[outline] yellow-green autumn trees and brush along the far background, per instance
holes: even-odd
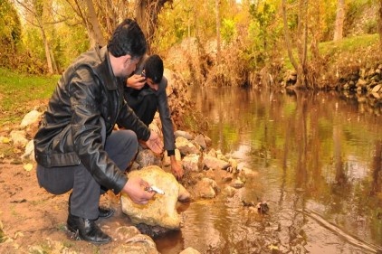
[[[358,54],[356,47],[351,59],[377,64],[381,16],[382,0],[3,0],[0,67],[61,73],[130,17],[146,34],[149,52],[188,83],[251,86],[264,77],[280,81],[291,69],[299,87],[321,89],[336,82],[335,71],[350,58],[333,59],[320,43],[336,49],[344,39],[374,34],[368,51]],[[349,48],[362,38],[349,40]]]

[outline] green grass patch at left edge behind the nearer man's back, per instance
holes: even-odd
[[[49,99],[60,76],[29,76],[0,68],[0,126],[20,122]]]

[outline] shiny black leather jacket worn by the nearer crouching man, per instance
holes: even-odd
[[[123,99],[107,47],[81,54],[62,74],[34,136],[36,162],[45,167],[84,165],[101,185],[119,193],[128,181],[103,149],[100,118],[109,136],[116,123],[139,139],[150,132]]]

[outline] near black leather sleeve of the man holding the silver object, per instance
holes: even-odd
[[[82,69],[69,84],[74,151],[97,183],[119,193],[128,178],[104,150],[100,124],[100,80]]]

